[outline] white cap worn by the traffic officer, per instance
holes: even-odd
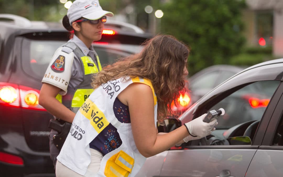
[[[113,17],[114,14],[103,10],[98,0],[76,0],[68,9],[67,16],[72,26],[72,22],[81,17],[89,20],[97,20],[102,16]]]

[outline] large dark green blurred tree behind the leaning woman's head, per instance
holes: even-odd
[[[161,7],[161,32],[191,47],[190,75],[211,65],[228,64],[241,51],[244,7],[240,0],[178,0]]]

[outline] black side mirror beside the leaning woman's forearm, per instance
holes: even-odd
[[[158,133],[160,132],[169,133],[181,126],[182,126],[182,122],[176,118],[165,119],[164,125],[160,125],[160,123],[157,122]]]

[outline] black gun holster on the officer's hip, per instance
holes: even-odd
[[[71,129],[71,123],[63,121],[63,120],[58,120],[58,119],[51,119],[49,121],[48,128],[53,129],[58,132],[57,135],[53,136],[53,142],[55,146],[61,150],[69,132]]]

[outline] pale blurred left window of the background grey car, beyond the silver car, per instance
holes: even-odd
[[[201,75],[198,79],[194,79],[194,81],[190,82],[190,89],[213,89],[219,74],[220,72],[210,72]]]

